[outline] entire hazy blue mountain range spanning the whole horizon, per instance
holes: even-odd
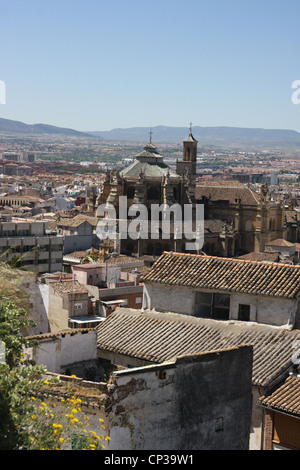
[[[57,135],[74,137],[97,137],[106,141],[149,142],[150,128],[117,128],[110,131],[81,132],[48,124],[25,124],[0,118],[0,133],[16,135]],[[187,127],[156,126],[152,128],[153,143],[181,144],[188,134]],[[193,135],[199,146],[288,149],[300,151],[300,133],[293,130],[261,129],[243,127],[193,127]]]

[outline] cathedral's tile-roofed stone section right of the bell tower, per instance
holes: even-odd
[[[222,232],[205,237],[203,251],[208,255],[261,252],[268,242],[285,238],[284,202],[272,201],[265,185],[254,191],[238,181],[198,182],[196,199],[204,204],[206,220],[224,223]]]

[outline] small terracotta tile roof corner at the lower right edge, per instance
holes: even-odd
[[[272,394],[259,399],[262,406],[300,416],[300,377],[290,375]]]

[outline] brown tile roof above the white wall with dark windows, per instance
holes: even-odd
[[[295,298],[300,266],[164,252],[143,282]]]

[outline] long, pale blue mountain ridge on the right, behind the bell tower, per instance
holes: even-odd
[[[105,140],[148,142],[149,132],[150,129],[146,127],[132,127],[92,132],[91,134]],[[152,128],[152,132],[153,143],[181,143],[188,136],[189,129],[187,127],[156,126]],[[192,133],[200,146],[248,146],[300,150],[300,133],[293,130],[194,126]]]

